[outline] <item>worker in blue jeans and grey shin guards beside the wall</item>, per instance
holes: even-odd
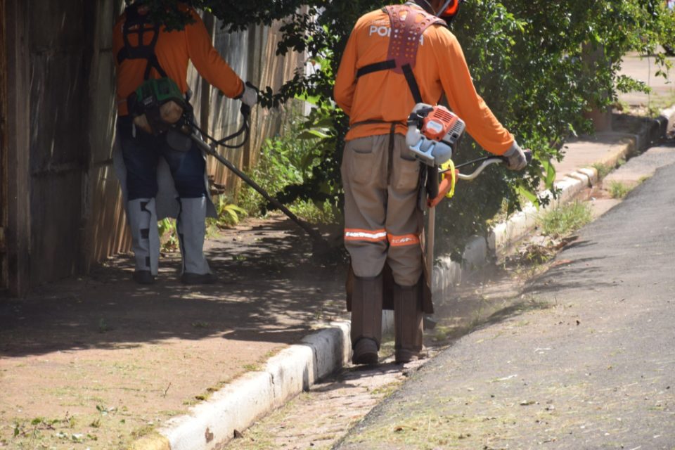
[[[213,283],[203,254],[205,220],[215,216],[205,176],[205,155],[189,136],[173,131],[148,132],[136,122],[143,113],[136,89],[162,80],[186,101],[188,62],[207,82],[246,105],[257,103],[257,91],[246,86],[212,46],[211,37],[193,8],[177,8],[191,16],[184,30],[167,31],[148,18],[146,1],[127,6],[113,28],[113,56],[117,69],[117,148],[115,165],[124,193],[127,219],[136,259],[133,279],[151,284],[158,274],[158,219],[176,217],[186,284]],[[188,103],[186,108],[189,110]],[[148,119],[152,113],[148,112]],[[145,115],[141,116],[145,117]],[[173,136],[173,137],[169,137]],[[176,138],[176,136],[178,136]],[[176,144],[176,139],[178,144]],[[178,148],[178,150],[176,150]]]

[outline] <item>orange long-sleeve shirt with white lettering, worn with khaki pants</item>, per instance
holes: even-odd
[[[415,101],[404,75],[383,70],[356,78],[359,68],[387,60],[389,33],[389,15],[381,9],[356,22],[340,61],[333,94],[349,115],[350,124],[366,120],[401,122],[396,132],[406,134],[405,123]],[[437,104],[445,92],[451,109],[485,150],[501,155],[513,145],[513,135],[477,94],[461,46],[446,27],[432,25],[424,32],[413,73],[424,103]],[[349,130],[346,139],[389,132],[387,123],[360,124]]]

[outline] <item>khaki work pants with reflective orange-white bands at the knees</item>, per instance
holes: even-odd
[[[348,141],[341,171],[345,247],[354,275],[378,276],[388,262],[398,285],[415,285],[423,270],[420,163],[410,155],[405,136]]]

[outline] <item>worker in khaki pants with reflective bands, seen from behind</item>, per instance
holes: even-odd
[[[395,359],[422,350],[423,211],[420,162],[406,145],[406,119],[418,103],[446,95],[466,129],[520,170],[525,154],[477,94],[456,37],[446,24],[461,0],[415,0],[356,22],[335,79],[335,102],[349,116],[342,159],[345,247],[352,259],[352,361],[376,364],[383,269],[391,269]],[[390,300],[390,299],[387,299]]]

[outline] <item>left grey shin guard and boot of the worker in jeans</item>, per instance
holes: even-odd
[[[155,199],[137,198],[127,202],[127,220],[131,229],[131,248],[136,260],[133,279],[139,284],[153,284],[160,260]]]

